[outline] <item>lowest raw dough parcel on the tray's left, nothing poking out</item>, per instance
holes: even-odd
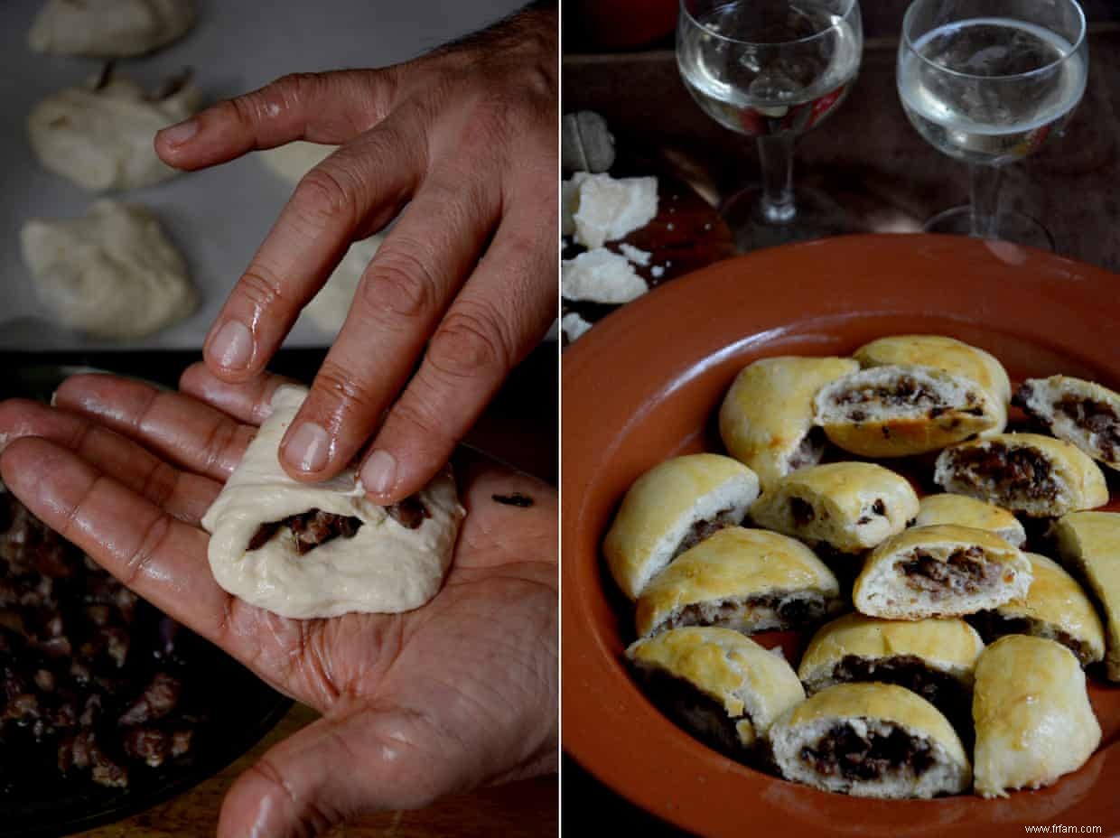
[[[84,218],[28,221],[20,244],[39,299],[68,328],[143,337],[198,305],[183,257],[139,204],[99,201]]]

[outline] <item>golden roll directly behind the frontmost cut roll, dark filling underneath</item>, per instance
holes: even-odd
[[[846,614],[810,641],[797,668],[809,695],[834,683],[880,681],[922,696],[953,720],[968,720],[972,672],[983,651],[963,620],[876,620]]]

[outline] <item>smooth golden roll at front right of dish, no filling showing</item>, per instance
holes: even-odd
[[[1007,797],[1076,771],[1101,742],[1085,673],[1065,646],[1011,634],[977,662],[972,698],[976,791]]]

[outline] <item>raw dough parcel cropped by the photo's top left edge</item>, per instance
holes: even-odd
[[[121,58],[170,44],[195,17],[192,0],[47,0],[28,44],[37,53]]]

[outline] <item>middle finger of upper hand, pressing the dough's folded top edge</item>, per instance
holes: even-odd
[[[293,477],[324,479],[349,465],[477,261],[497,221],[498,196],[484,178],[459,174],[426,181],[362,278],[281,444]]]

